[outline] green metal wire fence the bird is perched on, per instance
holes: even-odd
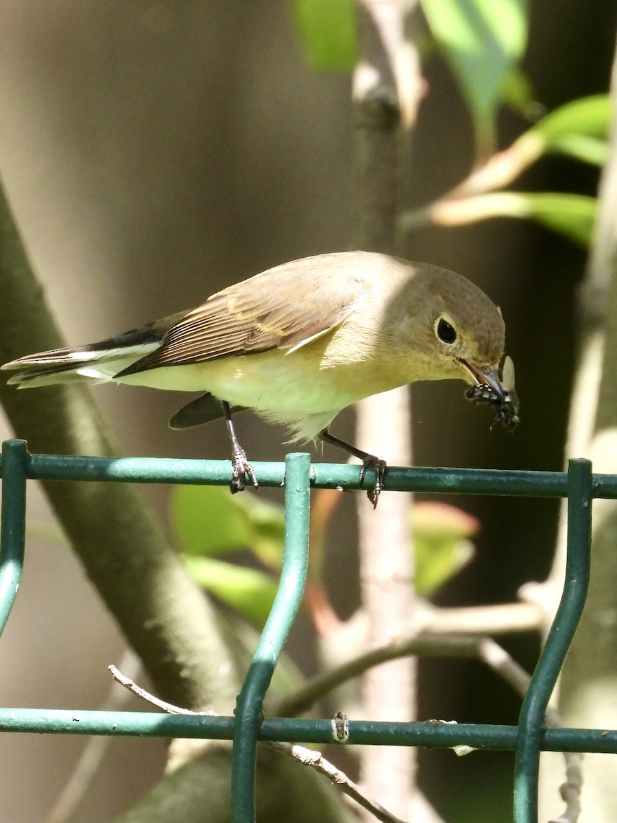
[[[359,468],[310,463],[308,454],[289,454],[285,463],[256,463],[263,486],[285,486],[285,555],[281,583],[240,691],[234,717],[180,716],[141,712],[56,709],[0,709],[0,731],[53,734],[198,737],[233,740],[234,823],[254,818],[257,741],[325,744],[332,721],[262,718],[262,700],[299,607],[308,557],[311,488],[359,488]],[[28,480],[138,483],[230,482],[230,463],[155,458],[88,458],[30,454],[23,440],[2,445],[0,523],[0,630],[4,628],[21,579]],[[545,709],[581,616],[589,582],[591,503],[617,497],[617,476],[591,473],[587,460],[571,460],[568,472],[506,472],[485,469],[397,468],[387,487],[480,495],[565,497],[568,499],[568,559],[564,591],[545,648],[522,704],[518,726],[434,723],[349,723],[348,745],[473,746],[516,750],[515,823],[536,823],[540,751],[617,753],[617,730],[545,728]]]

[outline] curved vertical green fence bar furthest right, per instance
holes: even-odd
[[[514,767],[514,823],[538,820],[538,768],[546,707],[581,618],[589,586],[592,498],[591,463],[569,460],[564,592],[522,703]]]

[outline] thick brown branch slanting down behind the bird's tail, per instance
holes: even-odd
[[[63,346],[2,193],[0,293],[2,362],[28,351]],[[72,385],[38,391],[35,397],[3,380],[0,384],[0,399],[13,429],[31,451],[114,453],[88,389]],[[157,690],[193,706],[229,704],[237,678],[220,621],[137,488],[90,482],[43,486],[88,576]]]

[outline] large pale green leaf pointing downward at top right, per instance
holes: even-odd
[[[488,142],[504,77],[527,43],[527,2],[422,0],[422,8],[471,109],[476,136]]]

